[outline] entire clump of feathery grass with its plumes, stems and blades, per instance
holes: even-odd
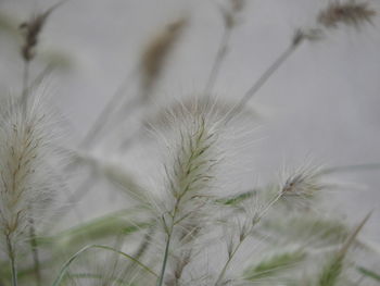
[[[215,101],[211,92],[221,70],[232,32],[239,23],[239,15],[248,2],[228,0],[226,5],[220,5],[224,34],[205,89],[202,90],[203,97],[175,102],[140,122],[141,125],[145,123],[144,127],[148,126],[150,130],[160,130],[160,136],[153,141],[164,141],[166,147],[164,183],[154,184],[159,187],[153,192],[144,184],[150,174],[143,174],[140,182],[139,176],[131,175],[119,163],[129,159],[122,157],[121,150],[115,151],[117,161],[109,160],[109,154],[98,157],[81,151],[96,144],[101,132],[104,132],[102,139],[114,139],[106,136],[109,133],[105,126],[111,125],[115,111],[123,114],[131,114],[132,111],[142,113],[141,108],[151,102],[150,97],[173,47],[187,27],[188,18],[180,17],[166,26],[143,49],[138,65],[140,90],[136,97],[118,108],[124,91],[123,88],[118,90],[119,94],[110,101],[79,145],[81,150],[75,152],[78,159],[73,164],[75,167],[90,166],[93,170],[83,185],[85,191],[97,185],[100,177],[106,178],[113,183],[107,184],[106,188],[112,189],[116,185],[128,195],[124,209],[89,222],[76,223],[75,227],[50,237],[36,237],[36,226],[41,224],[41,216],[46,215],[43,211],[54,197],[56,178],[51,176],[51,166],[54,165],[51,161],[55,161],[50,126],[52,119],[43,108],[43,100],[36,99],[29,92],[28,65],[35,59],[38,38],[47,17],[62,2],[22,25],[24,43],[21,58],[25,63],[22,100],[5,100],[0,105],[0,234],[2,245],[5,246],[7,262],[11,265],[11,270],[7,271],[8,268],[0,264],[0,285],[4,284],[3,277],[11,275],[12,285],[17,286],[18,278],[30,279],[29,273],[36,275],[37,285],[49,285],[52,281],[53,286],[333,286],[350,281],[345,275],[349,270],[346,262],[350,261],[347,252],[353,246],[357,250],[368,251],[370,244],[360,239],[358,233],[369,216],[351,232],[338,217],[321,215],[316,211],[320,207],[316,195],[324,195],[322,190],[332,187],[322,183],[322,176],[337,170],[307,164],[286,174],[280,183],[276,181],[265,186],[251,187],[238,195],[230,194],[239,190],[239,178],[231,178],[237,181],[233,187],[229,184],[218,186],[217,182],[225,175],[231,176],[229,171],[226,174],[220,172],[220,166],[229,159],[225,156],[229,150],[223,148],[225,135],[232,132],[232,137],[236,137],[237,127],[248,127],[236,119],[254,119],[252,112],[245,109],[249,100],[302,42],[320,39],[324,32],[340,24],[359,27],[370,22],[376,13],[369,4],[356,1],[331,2],[317,15],[313,28],[295,32],[284,52],[241,100],[232,103]],[[124,114],[123,120],[126,117]],[[119,123],[117,120],[115,122]],[[239,126],[232,123],[239,123]],[[123,141],[121,145],[129,138],[142,145],[141,137],[135,135],[121,135],[122,138],[117,139]],[[153,144],[150,144],[152,147]],[[229,147],[238,149],[236,145]],[[231,165],[229,167],[232,169]],[[101,176],[96,176],[96,173]],[[102,184],[99,186],[104,187]],[[83,196],[81,191],[79,195]],[[283,201],[286,203],[281,203]],[[112,238],[116,238],[116,241]],[[23,275],[17,275],[21,249],[27,239],[33,247],[34,265],[23,263]],[[221,259],[220,249],[225,243],[226,258]],[[43,256],[41,264],[37,248],[43,248],[43,254],[49,253]],[[131,254],[124,252],[124,249]],[[98,259],[100,253],[96,253],[96,259],[85,256],[93,250],[109,251],[112,256],[106,257],[105,262],[101,259],[105,256]],[[72,251],[75,253],[66,256],[66,252]],[[51,270],[61,262],[56,253],[63,252],[65,262],[58,274],[40,275],[42,268],[52,273]],[[84,261],[80,260],[83,257]],[[319,263],[326,257],[329,258],[327,264]],[[358,270],[378,281],[376,272],[366,268]]]

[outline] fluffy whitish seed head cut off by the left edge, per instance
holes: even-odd
[[[26,115],[9,101],[0,119],[0,232],[16,238],[52,199],[50,122],[38,100]]]

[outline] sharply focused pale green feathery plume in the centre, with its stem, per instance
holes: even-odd
[[[199,215],[210,197],[210,182],[213,181],[218,162],[215,150],[218,138],[217,122],[213,122],[213,114],[204,113],[197,103],[190,111],[183,109],[182,112],[182,119],[174,117],[179,121],[180,126],[173,147],[173,162],[165,167],[170,203],[166,207],[166,214],[162,216],[166,247],[157,286],[164,285],[172,240],[178,239],[176,235],[183,238],[197,232]],[[179,233],[177,229],[180,229]],[[183,229],[188,231],[183,233]],[[189,254],[185,256],[181,269],[188,263]],[[179,272],[181,270],[177,269],[175,276],[178,277]]]

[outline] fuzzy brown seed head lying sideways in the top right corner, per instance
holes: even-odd
[[[325,27],[335,27],[339,23],[358,27],[365,22],[370,23],[375,15],[376,11],[368,3],[335,1],[319,13],[318,22]]]

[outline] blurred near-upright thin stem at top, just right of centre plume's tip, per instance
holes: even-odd
[[[232,28],[230,26],[227,26],[223,33],[223,37],[218,47],[218,51],[216,53],[213,67],[211,70],[208,79],[206,82],[206,86],[204,88],[204,94],[206,97],[210,96],[210,94],[213,91],[213,88],[215,86],[216,78],[220,72],[220,66],[226,58],[227,47],[228,42],[231,38]]]

